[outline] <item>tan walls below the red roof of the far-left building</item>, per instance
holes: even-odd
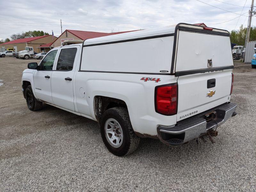
[[[53,37],[53,41],[55,41],[57,38],[58,37]],[[28,47],[33,47],[34,51],[39,53],[40,51],[36,47],[39,47],[40,45],[48,44],[51,42],[52,42],[52,36],[50,35],[40,39],[36,39],[34,41],[30,41],[27,44],[26,43],[6,44],[6,45],[0,45],[0,47],[1,48],[5,47],[5,49],[7,49],[7,48],[13,48],[13,45],[17,45],[17,49],[19,52],[19,51],[23,51],[25,47],[28,46]]]

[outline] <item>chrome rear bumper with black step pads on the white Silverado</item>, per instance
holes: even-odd
[[[158,137],[167,145],[176,146],[183,144],[189,140],[196,139],[225,123],[230,117],[236,115],[235,110],[236,103],[227,103],[212,110],[216,112],[213,120],[206,121],[206,119],[203,118],[205,114],[209,113],[208,111],[200,116],[178,123],[174,127],[158,126]]]

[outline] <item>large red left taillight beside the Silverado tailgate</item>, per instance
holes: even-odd
[[[155,110],[162,115],[177,114],[178,84],[160,85],[155,88]]]

